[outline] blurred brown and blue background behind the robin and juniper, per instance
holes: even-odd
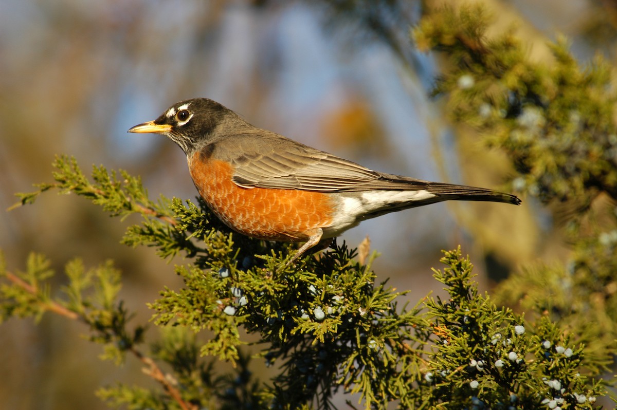
[[[529,55],[567,35],[573,52],[615,59],[617,9],[602,0],[485,1],[495,31],[515,24]],[[31,251],[57,271],[79,256],[112,259],[136,321],[164,285],[178,288],[173,263],[151,249],[119,244],[138,219],[111,219],[70,195],[43,195],[6,212],[15,192],[50,182],[57,154],[143,177],[151,197],[196,196],[183,152],[164,137],[127,134],[177,100],[209,97],[255,126],[376,170],[499,189],[510,172],[499,152],[459,144],[429,92],[440,61],[413,51],[409,30],[421,1],[3,0],[0,2],[0,248],[9,270]],[[457,136],[457,137],[455,137]],[[470,253],[484,289],[517,263],[557,257],[552,224],[539,206],[440,203],[382,216],[341,239],[370,236],[378,279],[412,289],[415,304],[440,289],[430,267],[441,249]],[[121,380],[150,385],[130,359],[101,363],[100,346],[78,323],[46,316],[10,321],[0,333],[0,408],[105,408],[93,394]],[[259,366],[258,366],[259,367]]]

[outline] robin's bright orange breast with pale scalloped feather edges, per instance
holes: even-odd
[[[328,194],[239,187],[229,163],[197,155],[189,159],[193,182],[212,211],[235,231],[295,242],[307,240],[311,229],[331,225],[334,203]]]

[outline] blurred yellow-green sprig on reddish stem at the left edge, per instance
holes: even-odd
[[[23,272],[10,273],[2,266],[0,277],[6,281],[0,284],[0,322],[11,317],[39,320],[49,311],[79,320],[91,330],[90,340],[104,345],[102,358],[122,363],[126,351],[143,342],[146,327],[127,328],[131,314],[118,300],[118,270],[109,261],[85,269],[81,260],[72,260],[65,266],[68,284],[54,297],[49,284],[54,272],[49,266],[49,260],[35,253]]]

